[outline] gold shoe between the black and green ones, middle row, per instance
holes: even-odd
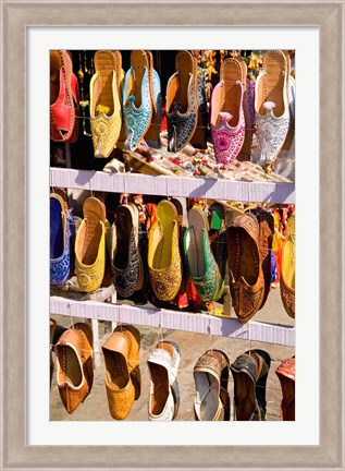
[[[173,301],[182,282],[178,247],[178,213],[168,200],[157,206],[157,221],[150,229],[148,269],[152,290],[161,301]]]

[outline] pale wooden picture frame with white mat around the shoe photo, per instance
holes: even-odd
[[[4,1],[1,10],[1,469],[344,469],[344,4]],[[236,44],[296,53],[296,420],[229,426],[53,419],[42,360],[49,279],[41,274],[48,274],[48,186],[60,173],[47,157],[48,52],[79,51],[83,72],[83,51],[222,50],[225,43],[233,58]],[[94,196],[98,178],[97,171],[87,181],[77,177],[75,188]],[[167,197],[204,192],[211,200],[218,191],[207,179],[187,192],[167,174],[145,178],[152,194]],[[120,172],[116,181],[123,193],[141,182]],[[63,310],[72,323],[78,307],[71,300]],[[151,314],[161,331],[175,325]],[[109,319],[121,322],[120,314]],[[259,334],[248,326],[250,341]],[[217,323],[202,328],[211,338]]]

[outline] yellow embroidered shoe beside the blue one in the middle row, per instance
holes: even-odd
[[[83,205],[84,219],[75,240],[76,278],[83,291],[96,291],[106,274],[110,224],[106,219],[106,206],[96,197],[88,197]]]

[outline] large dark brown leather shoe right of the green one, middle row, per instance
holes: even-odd
[[[227,228],[229,285],[238,321],[247,323],[260,309],[264,277],[259,250],[259,222],[243,214]]]

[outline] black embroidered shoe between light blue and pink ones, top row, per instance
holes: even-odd
[[[206,148],[207,102],[197,59],[188,51],[180,51],[176,72],[167,85],[168,148],[180,152],[187,144]]]

